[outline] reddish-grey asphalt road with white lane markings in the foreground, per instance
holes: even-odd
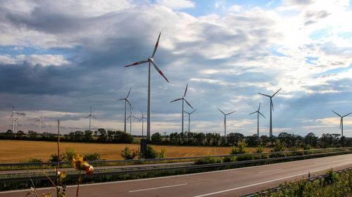
[[[203,172],[191,175],[158,177],[123,182],[85,184],[80,196],[241,196],[268,189],[280,183],[325,174],[333,168],[352,167],[352,154],[313,158],[303,161],[260,165],[233,170]],[[66,196],[75,196],[77,186],[68,186]],[[38,189],[37,193],[54,189]],[[25,196],[26,191],[0,192],[0,196]],[[40,196],[40,195],[39,195]],[[56,196],[56,195],[55,195]]]

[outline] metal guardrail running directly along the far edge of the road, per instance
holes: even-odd
[[[283,152],[277,152],[283,153]],[[241,164],[249,164],[249,163],[262,163],[268,161],[282,161],[282,160],[290,160],[294,158],[309,158],[309,157],[317,157],[317,156],[328,156],[334,154],[350,154],[350,151],[338,151],[338,152],[329,152],[329,153],[321,153],[321,154],[307,154],[307,155],[300,155],[300,156],[284,156],[284,157],[277,157],[277,158],[262,158],[256,160],[249,160],[249,161],[234,161],[234,162],[227,162],[227,163],[210,163],[210,164],[202,164],[202,165],[186,165],[180,167],[170,167],[170,168],[153,168],[153,169],[139,169],[139,170],[118,170],[112,172],[94,172],[92,175],[89,176],[104,176],[104,175],[123,175],[123,174],[132,174],[132,173],[144,173],[144,172],[160,172],[160,171],[169,171],[169,170],[187,170],[187,169],[198,169],[198,168],[216,168],[216,167],[223,167],[227,165],[241,165]],[[49,175],[51,179],[56,179],[55,175]],[[68,178],[70,177],[77,177],[77,174],[68,174]],[[42,180],[47,179],[46,176],[34,176],[32,180]],[[8,177],[8,178],[1,178],[0,182],[20,182],[20,181],[30,181],[30,177]]]

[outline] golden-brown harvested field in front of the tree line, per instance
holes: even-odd
[[[57,142],[38,142],[22,140],[0,140],[0,163],[26,162],[30,158],[48,161],[51,154],[57,154]],[[96,144],[96,143],[75,143],[60,142],[61,152],[66,148],[75,149],[79,154],[101,154],[101,158],[106,160],[122,159],[120,152],[125,147],[139,149],[139,144]],[[175,146],[152,146],[156,151],[163,147],[166,150],[166,157],[187,157],[187,156],[215,156],[227,155],[230,147],[175,147]],[[253,152],[256,148],[249,148]],[[265,149],[270,151],[270,149]]]

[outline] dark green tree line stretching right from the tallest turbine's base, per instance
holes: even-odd
[[[352,137],[345,137],[339,134],[323,133],[321,137],[315,136],[314,133],[308,133],[306,136],[295,135],[282,132],[277,136],[248,135],[241,133],[230,133],[221,136],[219,133],[171,133],[168,136],[162,136],[160,133],[151,135],[151,144],[170,144],[186,146],[238,146],[241,142],[246,142],[249,147],[273,147],[279,140],[284,143],[285,147],[304,147],[309,144],[312,147],[352,147]]]

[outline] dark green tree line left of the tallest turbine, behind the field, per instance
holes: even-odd
[[[0,133],[2,140],[37,140],[37,141],[57,141],[57,135],[54,133],[43,132],[38,134],[33,130],[28,130],[27,134],[22,130],[13,133],[12,130],[7,130],[6,133]],[[121,143],[131,144],[134,137],[120,130],[77,130],[60,137],[61,141],[65,142],[100,142],[100,143]]]

